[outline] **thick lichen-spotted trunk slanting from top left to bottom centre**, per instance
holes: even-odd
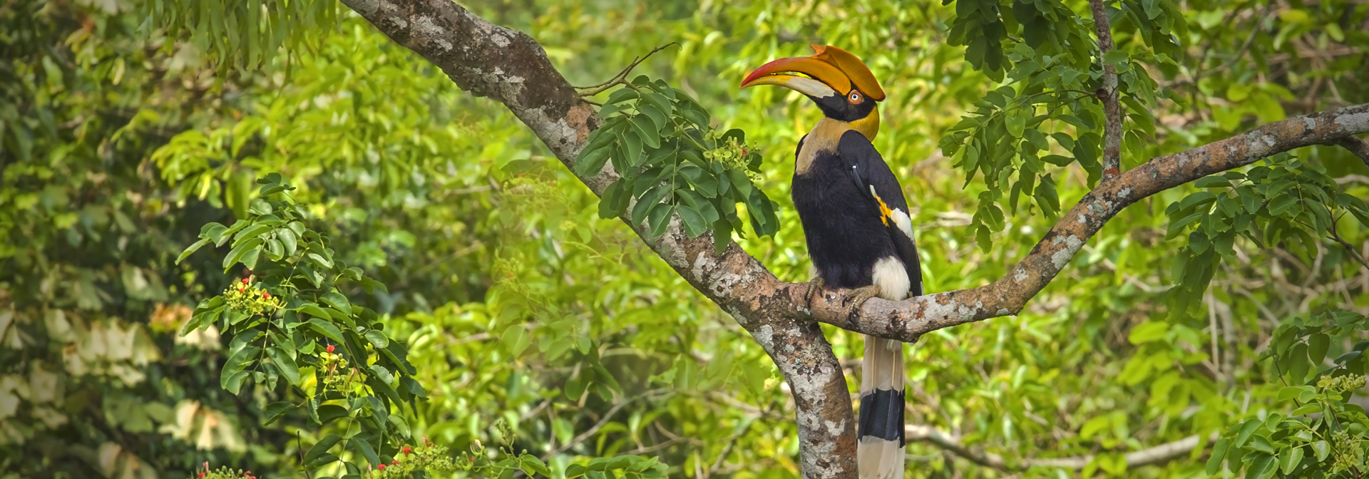
[[[522,31],[493,25],[450,0],[341,1],[442,68],[461,89],[504,103],[568,168],[601,123],[541,45]],[[579,179],[602,194],[617,172],[605,166]],[[797,405],[804,478],[856,478],[856,420],[846,376],[819,324],[794,313],[786,285],[737,244],[716,255],[711,235],[690,238],[678,218],[656,240],[646,240],[641,224],[628,226],[690,285],[730,312],[779,367]]]

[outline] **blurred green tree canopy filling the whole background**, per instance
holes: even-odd
[[[1019,34],[1036,41],[1032,22],[1066,18],[1005,12],[1025,4],[1087,16],[1086,1],[463,4],[531,34],[575,85],[678,42],[638,71],[697,99],[720,129],[746,130],[779,229],[738,241],[786,281],[808,279],[787,187],[794,144],[819,114],[791,93],[737,82],[765,60],[806,55],[809,42],[861,55],[890,92],[875,145],[909,197],[928,292],[1002,276],[1097,182],[1083,160],[1050,167],[1054,197],[1017,203],[1016,183],[1043,182],[1017,167],[976,177],[968,146],[951,152],[968,138],[957,137],[965,115],[1021,129],[1012,123],[1028,118],[994,97],[1021,78],[1020,52],[1002,47]],[[1369,3],[1113,7],[1125,56],[1109,60],[1134,68],[1124,100],[1149,96],[1128,103],[1124,170],[1369,101]],[[342,287],[408,346],[427,400],[396,413],[415,437],[453,450],[513,441],[553,478],[616,454],[658,457],[671,476],[798,475],[794,405],[764,350],[631,230],[600,219],[594,196],[502,105],[461,93],[341,4],[15,0],[0,22],[0,478],[185,478],[204,461],[294,478],[316,442],[355,432],[304,413],[267,424],[267,406],[293,393],[248,385],[229,394],[219,372],[234,345],[215,327],[178,334],[196,304],[245,274],[223,272],[227,248],[177,256],[204,224],[246,218],[268,172],[298,186],[303,213],[338,259],[389,286]],[[1169,37],[1154,37],[1151,22]],[[1075,70],[1058,75],[1088,68]],[[1092,127],[1086,118],[1076,119]],[[1291,208],[1314,213],[1276,204],[1280,193],[1369,197],[1369,164],[1342,148],[1242,171],[1255,168],[1298,185],[1261,190],[1269,201],[1257,205],[1283,208],[1288,224],[1303,213]],[[910,476],[1080,474],[990,467],[961,450],[1088,457],[1086,475],[1202,476],[1210,452],[1235,448],[1209,448],[1213,434],[1236,427],[1249,439],[1244,424],[1298,412],[1309,368],[1359,364],[1362,376],[1369,229],[1346,213],[1329,231],[1268,244],[1233,235],[1217,255],[1207,245],[1224,231],[1206,218],[1224,205],[1201,194],[1239,189],[1232,181],[1132,205],[1021,315],[910,348],[908,420],[956,442],[910,443]],[[1188,261],[1209,267],[1188,278]],[[826,331],[857,376],[858,335]],[[1280,367],[1290,361],[1301,378]],[[1362,382],[1350,386],[1312,394],[1362,393]],[[1192,435],[1191,453],[1127,468],[1125,453]],[[1365,469],[1369,443],[1344,438],[1335,456],[1307,443],[1251,448],[1306,450],[1305,461],[1343,461],[1344,475]],[[1273,474],[1268,465],[1259,471]]]

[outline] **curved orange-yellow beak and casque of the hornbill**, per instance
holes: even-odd
[[[856,55],[836,47],[812,48],[816,52],[813,56],[784,57],[756,68],[746,75],[741,88],[779,85],[819,99],[845,96],[852,88],[858,88],[872,100],[884,99],[884,90],[879,88],[875,75]]]

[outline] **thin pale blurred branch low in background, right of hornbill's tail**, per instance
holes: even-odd
[[[971,449],[958,439],[950,437],[946,432],[938,431],[930,426],[908,426],[904,428],[904,437],[908,441],[921,441],[931,443],[936,448],[951,452],[956,456],[964,457],[971,463],[995,468],[999,471],[1027,471],[1034,467],[1055,467],[1065,469],[1083,469],[1088,463],[1094,461],[1094,456],[1075,456],[1075,457],[1051,457],[1051,458],[1024,458],[1019,460],[1016,464],[1009,464],[1002,456],[994,453],[979,452]],[[1138,468],[1143,465],[1164,464],[1170,460],[1183,457],[1198,448],[1199,438],[1197,435],[1190,435],[1187,438],[1166,442],[1154,448],[1147,448],[1136,452],[1127,453],[1127,468]],[[1213,434],[1207,443],[1217,441],[1217,434]]]

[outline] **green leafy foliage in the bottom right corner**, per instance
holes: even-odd
[[[1369,416],[1348,400],[1365,387],[1369,341],[1354,348],[1340,344],[1366,328],[1369,316],[1351,311],[1294,318],[1275,328],[1259,359],[1287,385],[1277,401],[1292,412],[1261,409],[1232,424],[1213,446],[1206,472],[1244,471],[1257,479],[1359,476],[1369,453]]]

